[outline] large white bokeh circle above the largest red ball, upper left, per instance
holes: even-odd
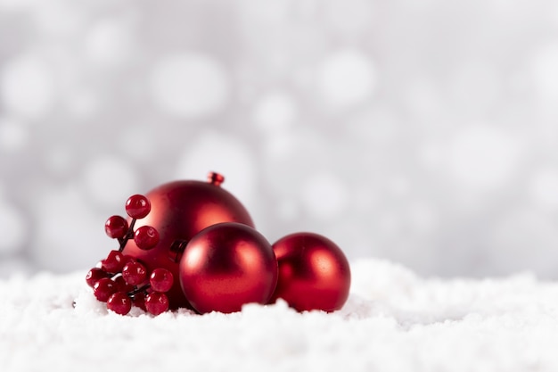
[[[229,95],[229,76],[221,62],[208,54],[168,54],[152,70],[154,102],[162,112],[198,118],[219,112]]]

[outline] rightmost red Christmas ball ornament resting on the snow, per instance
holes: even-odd
[[[340,310],[349,297],[349,261],[337,244],[314,233],[284,236],[273,244],[279,278],[272,298],[292,308]]]

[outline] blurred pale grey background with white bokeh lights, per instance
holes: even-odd
[[[554,1],[0,0],[0,277],[217,170],[271,242],[558,278],[557,103]]]

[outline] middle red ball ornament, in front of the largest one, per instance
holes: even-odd
[[[240,311],[246,303],[269,302],[277,283],[277,260],[271,244],[254,228],[219,223],[186,245],[179,281],[201,314]]]

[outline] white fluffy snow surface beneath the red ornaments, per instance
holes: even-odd
[[[86,270],[0,281],[0,369],[11,371],[556,371],[558,283],[424,278],[351,263],[343,309],[285,302],[234,314],[106,310]]]

